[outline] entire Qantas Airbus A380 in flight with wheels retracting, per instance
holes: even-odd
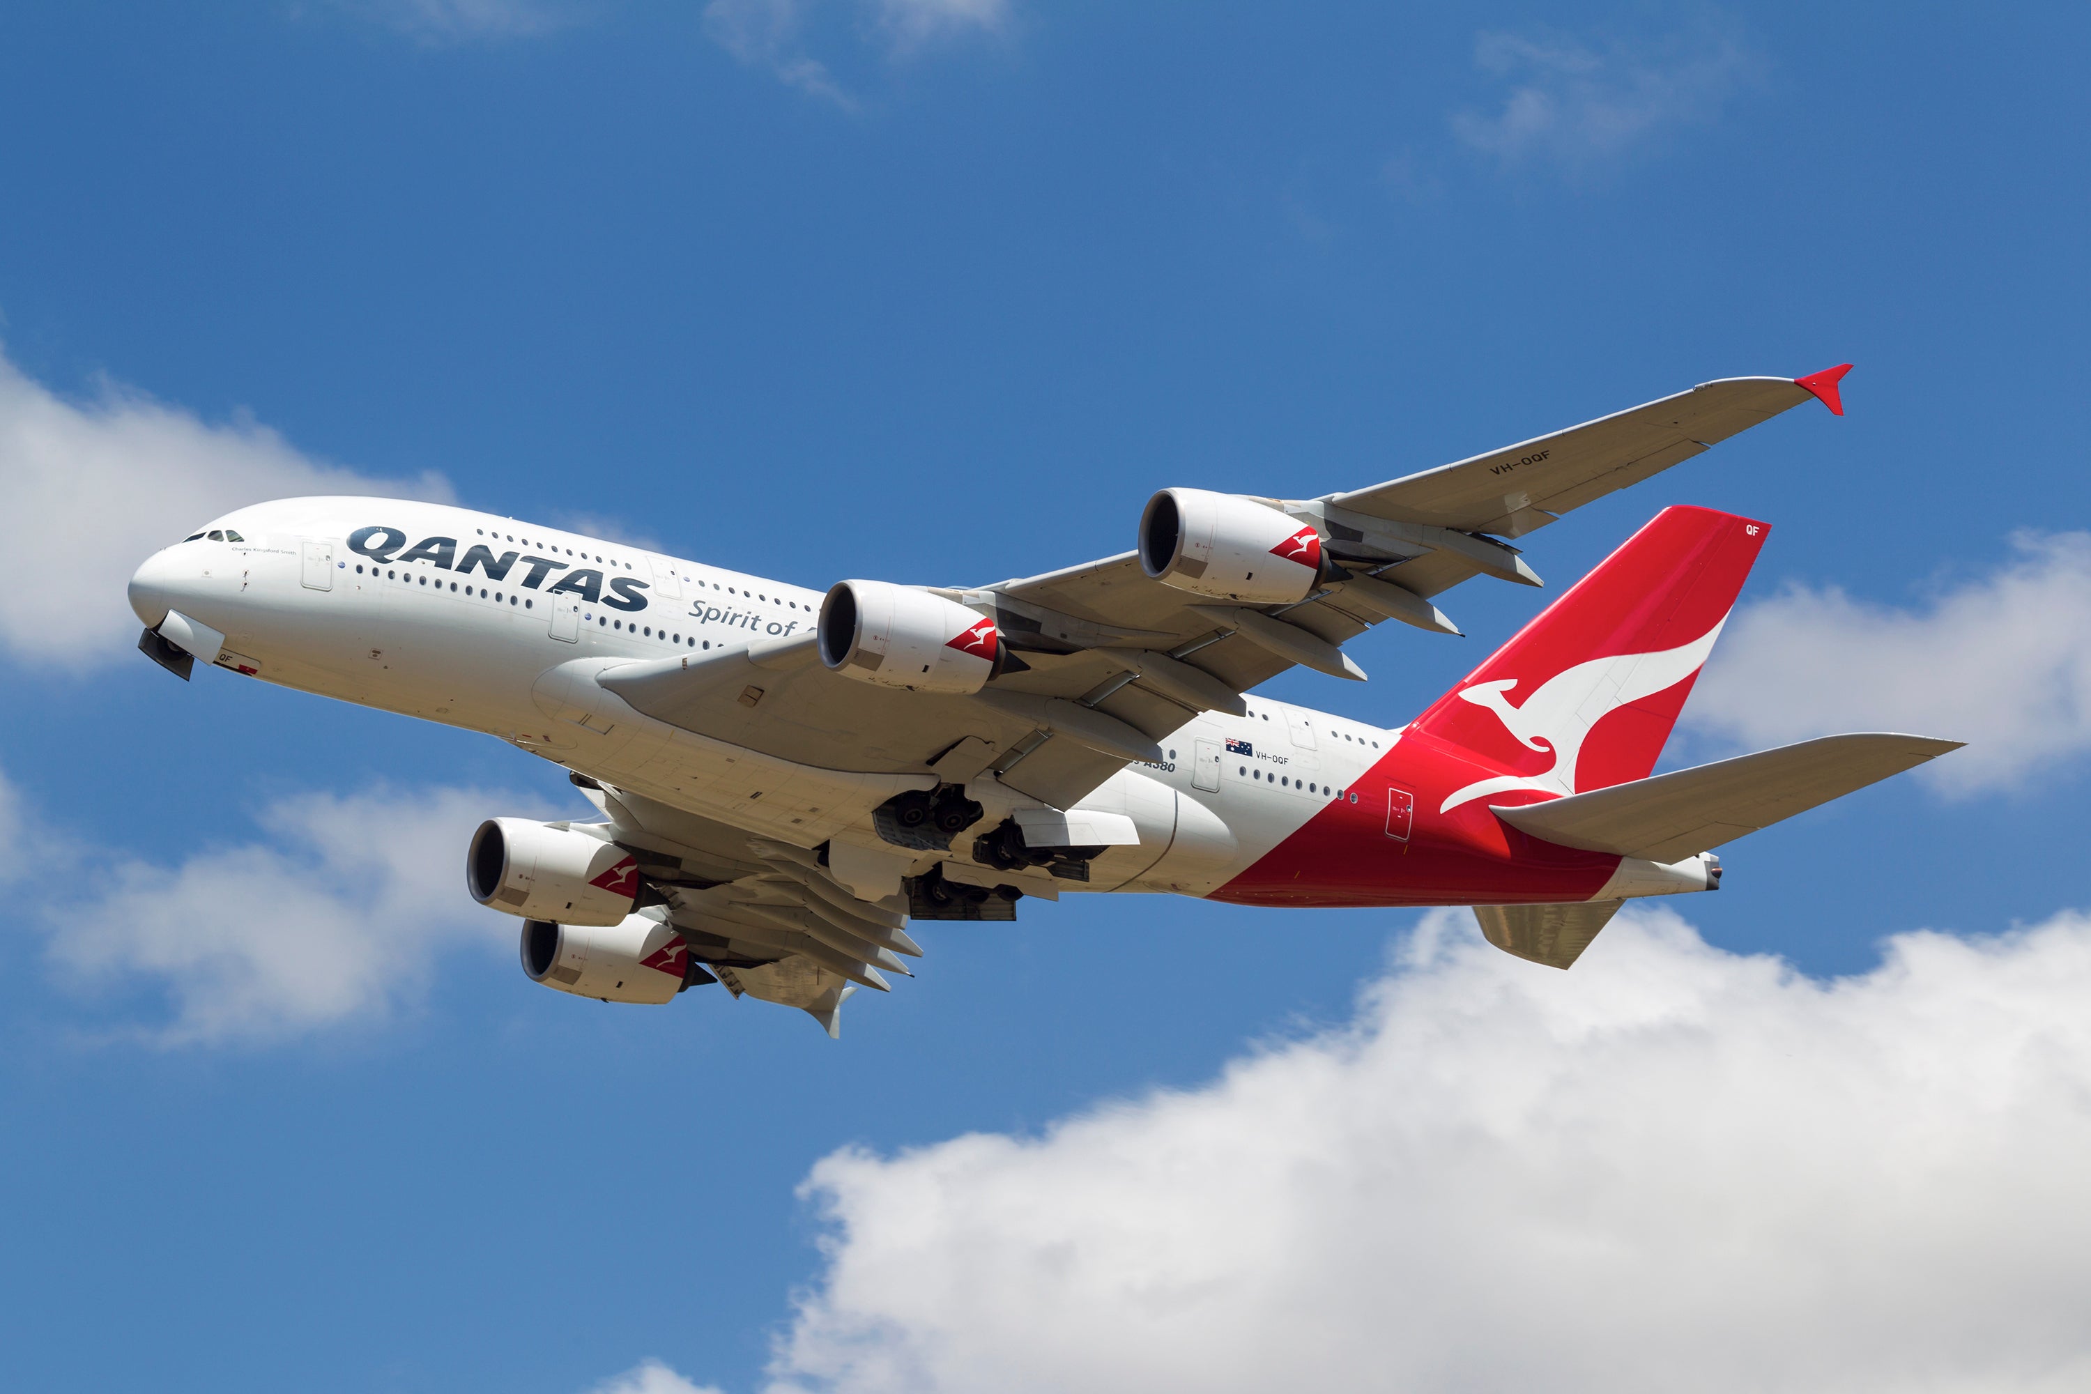
[[[473,899],[523,970],[665,1003],[719,982],[830,1035],[922,949],[910,920],[1022,897],[1472,905],[1568,968],[1629,899],[1713,890],[1710,849],[1953,750],[1857,734],[1650,777],[1765,545],[1667,508],[1403,727],[1248,696],[1437,598],[1539,585],[1508,539],[1809,399],[1848,364],[1725,378],[1370,489],[1163,489],[1138,548],[974,587],[826,594],[470,508],[240,508],[130,583],[140,648],[498,736],[600,821],[491,817]]]

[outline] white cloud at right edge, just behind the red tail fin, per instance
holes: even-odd
[[[1750,746],[1830,731],[1966,740],[1917,777],[2022,784],[2091,750],[2091,533],[2012,539],[1922,608],[1792,585],[1738,610],[1685,721]]]

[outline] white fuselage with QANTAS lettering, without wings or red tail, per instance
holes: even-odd
[[[443,504],[280,499],[203,531],[138,568],[132,606],[148,627],[178,612],[224,635],[222,652],[205,654],[220,667],[485,731],[797,846],[866,836],[876,805],[935,784],[922,767],[826,769],[698,736],[594,681],[636,660],[803,633],[822,591]],[[1020,884],[1207,895],[1294,834],[1397,736],[1261,698],[1248,698],[1246,717],[1188,717],[1161,742],[1163,763],[1129,767],[1081,803],[1129,815],[1140,846],[1098,857],[1087,884]],[[1230,740],[1253,754],[1223,754]],[[949,872],[1010,880],[964,859]]]

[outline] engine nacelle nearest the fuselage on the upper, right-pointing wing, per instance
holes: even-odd
[[[995,621],[891,581],[836,581],[820,604],[820,660],[880,688],[979,692],[1002,667]]]

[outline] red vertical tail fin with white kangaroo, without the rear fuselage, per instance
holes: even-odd
[[[1409,731],[1506,771],[1455,790],[1445,809],[1646,777],[1769,531],[1710,508],[1664,508],[1441,696]]]

